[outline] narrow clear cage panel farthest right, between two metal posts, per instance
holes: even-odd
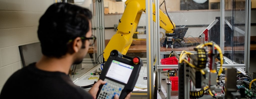
[[[225,54],[236,64],[244,64],[245,0],[225,2]]]

